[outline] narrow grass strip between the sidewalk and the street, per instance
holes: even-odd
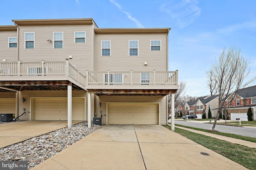
[[[223,132],[218,132],[218,131],[212,132],[212,131],[206,130],[206,129],[200,129],[200,128],[196,128],[196,127],[189,127],[189,126],[177,125],[177,124],[175,124],[175,126],[186,127],[186,128],[189,128],[189,129],[194,129],[194,130],[208,132],[208,133],[214,133],[216,135],[222,135],[222,136],[226,136],[226,137],[232,137],[232,138],[241,139],[241,140],[244,140],[244,141],[250,141],[250,142],[255,142],[256,143],[256,138],[254,138],[254,137],[247,137],[247,136],[241,136],[241,135],[236,135],[236,134],[231,134],[231,133],[223,133]]]

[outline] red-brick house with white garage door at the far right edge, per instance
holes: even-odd
[[[249,107],[252,108],[253,119],[256,120],[256,86],[236,90],[225,102],[230,120],[240,118],[242,121],[248,121]]]

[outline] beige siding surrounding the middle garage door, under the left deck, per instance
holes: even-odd
[[[22,91],[19,92],[19,98],[18,98],[18,103],[19,103],[19,108],[18,108],[18,115],[21,115],[24,111],[22,110],[23,108],[26,109],[26,111],[34,112],[34,105],[30,99],[33,100],[33,98],[66,98],[68,96],[67,91],[44,91],[44,90],[39,90],[39,91]],[[26,99],[26,102],[22,102],[22,98]],[[87,92],[84,90],[73,90],[72,91],[72,98],[86,98],[86,104],[88,104],[88,95]],[[93,101],[93,100],[92,100]],[[31,106],[30,106],[31,105]],[[86,106],[87,109],[87,106]],[[92,102],[92,117],[94,113],[94,107],[93,107],[93,102]],[[87,110],[86,110],[86,116],[87,116]],[[19,118],[20,120],[30,120],[30,113],[25,113],[22,115],[22,117]],[[86,117],[87,120],[87,117]]]

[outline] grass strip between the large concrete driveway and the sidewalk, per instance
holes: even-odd
[[[170,126],[164,125],[171,130]],[[202,134],[186,131],[184,129],[175,128],[175,132],[225,156],[226,158],[237,162],[238,164],[250,169],[256,170],[256,149],[249,148],[243,145],[230,143],[213,137],[208,137]]]

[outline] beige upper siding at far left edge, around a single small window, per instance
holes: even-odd
[[[9,37],[17,37],[16,31],[0,31],[0,61],[17,61],[17,48],[9,48]]]

